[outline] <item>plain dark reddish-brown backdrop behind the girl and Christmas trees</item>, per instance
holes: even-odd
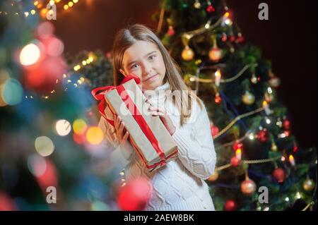
[[[56,34],[64,52],[112,49],[114,34],[127,23],[155,29],[151,16],[158,0],[86,0],[57,14]],[[258,19],[258,5],[269,5],[269,20]],[[212,1],[213,3],[213,1]],[[246,42],[262,49],[281,78],[278,100],[290,113],[300,146],[317,146],[317,1],[228,0]]]

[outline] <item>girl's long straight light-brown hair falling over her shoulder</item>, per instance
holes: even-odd
[[[151,31],[151,29],[141,24],[134,24],[129,26],[128,28],[123,28],[122,30],[119,30],[117,32],[117,35],[115,36],[114,45],[112,49],[114,85],[119,85],[120,83],[122,83],[122,80],[124,79],[124,75],[122,75],[122,73],[119,72],[119,69],[122,68],[124,52],[137,41],[151,42],[158,46],[158,49],[160,50],[163,56],[163,61],[165,63],[166,68],[165,78],[163,82],[168,82],[170,84],[170,90],[172,92],[175,90],[189,91],[189,88],[187,87],[187,85],[184,84],[184,81],[182,79],[181,69],[179,68],[177,63],[175,63],[175,61],[172,59],[172,57],[168,53],[167,49],[165,49],[165,47],[163,46],[160,39],[157,37],[157,35],[155,35],[155,33],[153,33],[153,31]],[[173,101],[173,104],[175,104],[175,102],[179,102],[181,104],[181,125],[184,124],[186,118],[189,118],[191,116],[192,98],[196,99],[196,102],[198,102],[199,106],[202,108],[202,103],[199,97],[196,97],[196,95],[191,91],[187,93],[188,96],[186,99],[182,98],[182,95],[177,95],[175,96],[176,99],[174,99]],[[186,114],[185,110],[188,110],[189,113]]]

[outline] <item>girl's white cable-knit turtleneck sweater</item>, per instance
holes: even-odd
[[[167,111],[173,110],[171,102],[165,101],[164,95],[158,95],[160,90],[168,90],[169,83],[157,87],[155,93],[146,97],[153,104],[165,107]],[[208,185],[204,181],[213,174],[216,166],[216,152],[209,126],[208,114],[205,107],[201,109],[194,102],[191,123],[180,126],[179,115],[172,114],[170,118],[177,128],[172,138],[177,143],[177,159],[172,159],[165,166],[148,172],[138,154],[133,150],[124,152],[118,145],[116,137],[112,134],[114,128],[105,118],[100,119],[99,126],[105,132],[108,142],[114,146],[112,164],[117,169],[124,169],[126,180],[143,176],[151,182],[153,190],[146,210],[160,211],[195,211],[215,210]],[[105,111],[110,118],[110,111]]]

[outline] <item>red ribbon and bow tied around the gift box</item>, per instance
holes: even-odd
[[[146,164],[143,157],[141,156],[141,154],[139,152],[139,148],[136,147],[136,149],[138,150],[137,152],[139,153],[139,156],[141,157],[141,159],[143,159],[143,162],[146,164],[147,168],[155,169],[156,166],[159,166],[159,165],[164,166],[166,164],[166,160],[169,159],[170,157],[172,157],[172,155],[176,154],[177,151],[174,152],[173,154],[171,154],[169,157],[167,157],[167,158],[165,157],[165,153],[163,152],[158,140],[155,138],[155,135],[153,134],[151,128],[148,126],[148,123],[146,122],[145,118],[143,118],[143,116],[140,114],[139,110],[136,107],[136,104],[134,104],[134,102],[129,97],[129,95],[127,94],[127,92],[124,88],[123,84],[131,79],[134,79],[137,84],[140,83],[140,78],[138,78],[136,75],[129,74],[124,78],[124,80],[122,81],[122,83],[119,86],[117,86],[117,87],[116,86],[97,87],[94,90],[92,90],[92,95],[93,95],[93,97],[95,97],[95,99],[100,101],[100,103],[98,104],[98,109],[100,111],[100,114],[102,114],[102,116],[104,116],[104,118],[107,120],[108,123],[110,123],[112,126],[114,126],[114,121],[110,120],[109,118],[107,118],[105,116],[105,107],[107,105],[107,102],[105,101],[105,93],[109,92],[110,90],[114,90],[114,89],[117,90],[119,96],[122,98],[122,101],[126,104],[127,109],[129,109],[129,111],[131,112],[131,115],[134,117],[136,122],[139,124],[139,127],[141,128],[141,130],[146,135],[148,140],[151,142],[151,145],[153,145],[155,152],[157,152],[159,157],[162,159],[160,162],[149,166],[148,164]],[[126,99],[124,99],[123,96],[125,96]],[[133,109],[131,109],[132,107],[129,107],[129,106],[133,106]]]

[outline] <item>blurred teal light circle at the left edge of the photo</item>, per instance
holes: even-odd
[[[23,88],[20,82],[13,78],[6,80],[6,83],[1,85],[0,96],[0,102],[3,101],[12,106],[19,104],[23,98]]]

